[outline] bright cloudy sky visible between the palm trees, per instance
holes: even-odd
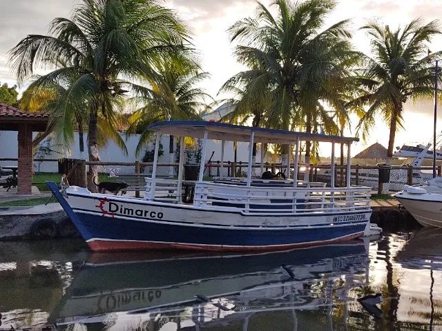
[[[0,82],[14,84],[15,79],[8,66],[7,52],[26,34],[44,34],[48,23],[54,17],[68,17],[79,0],[0,0]],[[203,87],[215,99],[224,81],[242,66],[233,57],[227,29],[244,17],[251,17],[256,11],[252,0],[163,0],[164,6],[173,8],[193,32],[193,43],[200,54],[202,69],[211,77]],[[271,1],[263,0],[269,5]],[[366,54],[370,52],[369,38],[358,30],[369,19],[387,23],[391,28],[404,26],[415,17],[424,21],[439,19],[442,0],[341,0],[327,17],[326,26],[342,19],[352,19],[354,46]],[[436,37],[430,50],[442,50],[442,37]],[[442,129],[442,105],[438,115],[438,131]],[[411,101],[405,105],[404,128],[396,133],[395,146],[403,143],[427,143],[432,139],[433,103],[431,100]],[[353,135],[357,119],[352,119],[352,129],[346,135]],[[356,143],[352,154],[360,152],[372,143],[387,147],[389,131],[382,118],[367,141]],[[327,152],[324,152],[328,154]]]

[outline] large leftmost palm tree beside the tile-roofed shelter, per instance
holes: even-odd
[[[50,72],[34,81],[35,90],[64,86],[66,92],[52,112],[56,137],[66,145],[72,141],[73,119],[81,114],[88,123],[89,161],[98,161],[99,121],[116,137],[115,108],[126,86],[152,74],[159,57],[180,52],[186,38],[181,21],[155,1],[82,0],[71,19],[52,21],[48,35],[30,34],[22,39],[10,51],[10,60],[19,84],[40,67]],[[88,187],[92,190],[96,174],[97,167],[90,167]]]

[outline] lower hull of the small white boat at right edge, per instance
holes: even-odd
[[[423,226],[442,227],[442,201],[434,199],[436,194],[409,194],[401,192],[394,197]]]

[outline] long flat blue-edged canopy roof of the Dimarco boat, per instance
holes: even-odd
[[[251,132],[255,132],[253,141],[256,143],[289,144],[299,137],[301,141],[322,141],[328,143],[352,143],[359,141],[354,137],[328,136],[327,134],[312,134],[305,132],[253,128],[251,126],[235,126],[229,123],[207,121],[164,121],[148,126],[149,130],[160,134],[173,134],[193,138],[204,137],[208,132],[209,139],[226,141],[250,141]]]

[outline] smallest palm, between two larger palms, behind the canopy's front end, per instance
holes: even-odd
[[[209,73],[198,72],[199,67],[190,59],[169,60],[157,64],[157,74],[148,79],[146,85],[132,86],[136,94],[132,101],[140,108],[129,118],[128,132],[141,134],[135,150],[137,155],[151,139],[151,132],[146,130],[149,124],[171,119],[201,119],[200,112],[209,107],[206,103],[211,99],[209,94],[195,87],[208,78]]]

